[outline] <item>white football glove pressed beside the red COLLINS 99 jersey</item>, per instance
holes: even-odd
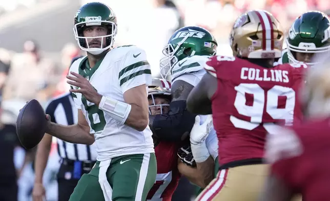
[[[208,137],[213,128],[212,115],[208,115],[205,122],[200,125],[200,117],[195,117],[195,124],[190,132],[191,151],[195,158],[195,162],[202,163],[210,157],[209,150],[206,146],[205,139]]]

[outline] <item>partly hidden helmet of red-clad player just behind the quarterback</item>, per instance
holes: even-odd
[[[171,82],[166,79],[152,78],[152,84],[148,86],[148,99],[152,99],[152,105],[149,105],[149,114],[151,114],[152,107],[160,107],[160,113],[162,114],[162,107],[169,107],[170,104],[156,105],[155,98],[161,97],[168,99],[171,102]]]

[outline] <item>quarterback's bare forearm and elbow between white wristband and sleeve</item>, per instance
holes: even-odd
[[[138,105],[131,104],[131,112],[128,115],[125,124],[138,131],[143,131],[149,123],[148,109],[143,109]]]

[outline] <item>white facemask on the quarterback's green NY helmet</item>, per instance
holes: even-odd
[[[107,35],[85,37],[83,30],[89,26],[106,26],[108,28]],[[78,46],[81,50],[87,51],[93,55],[98,55],[113,46],[114,38],[117,33],[117,25],[111,21],[102,21],[100,17],[86,17],[86,22],[77,23],[73,27],[73,32]],[[88,39],[101,38],[101,48],[90,48]],[[106,47],[104,47],[106,44]]]

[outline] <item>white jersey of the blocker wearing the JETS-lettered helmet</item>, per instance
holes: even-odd
[[[211,56],[190,56],[182,59],[172,69],[172,84],[175,81],[181,80],[196,86],[206,71],[204,70],[204,64],[209,60]],[[202,124],[207,115],[199,115],[200,123]],[[206,146],[210,155],[215,159],[218,156],[218,137],[214,128],[211,129],[209,135],[205,139]]]

